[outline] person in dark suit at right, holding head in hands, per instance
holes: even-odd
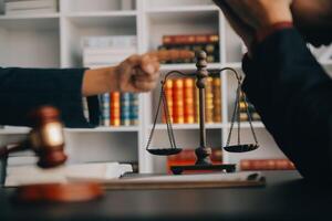
[[[243,91],[304,178],[331,179],[332,80],[307,48],[332,42],[330,0],[215,0],[246,43]]]

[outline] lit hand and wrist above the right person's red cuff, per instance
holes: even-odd
[[[235,14],[259,31],[278,22],[292,22],[292,0],[216,0],[225,1]]]

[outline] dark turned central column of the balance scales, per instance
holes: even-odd
[[[207,54],[204,51],[197,52],[197,72],[196,86],[199,91],[199,139],[200,146],[195,150],[197,156],[196,165],[211,165],[210,155],[211,148],[206,146],[206,128],[205,128],[205,78],[208,77],[207,71]]]

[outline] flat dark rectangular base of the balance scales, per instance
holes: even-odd
[[[200,172],[200,171],[225,171],[235,172],[236,165],[189,165],[189,166],[172,166],[170,170],[174,175],[181,175],[185,171]]]

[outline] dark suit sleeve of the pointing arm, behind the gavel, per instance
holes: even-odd
[[[30,126],[29,113],[41,105],[61,110],[66,127],[92,127],[98,113],[97,97],[89,97],[91,120],[83,114],[83,69],[1,69],[0,125]]]

